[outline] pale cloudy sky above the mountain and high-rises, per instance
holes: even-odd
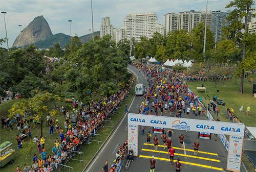
[[[226,11],[230,0],[208,0],[208,10]],[[206,0],[93,0],[94,31],[99,31],[101,18],[110,17],[115,28],[123,26],[124,17],[130,13],[155,12],[160,23],[169,12],[189,10],[205,11]],[[49,23],[53,34],[69,34],[68,20],[72,20],[72,35],[82,36],[92,28],[90,0],[0,0],[0,10],[6,11],[9,47],[19,34],[18,25],[24,29],[39,15]],[[0,13],[0,38],[5,36],[4,17]],[[3,47],[7,47],[6,43]]]

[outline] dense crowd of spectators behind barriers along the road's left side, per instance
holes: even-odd
[[[61,115],[66,116],[66,120],[64,128],[61,128],[57,118],[54,119],[50,115],[47,116],[47,125],[50,129],[49,135],[53,135],[53,132],[59,135],[59,137],[55,139],[51,152],[45,150],[45,144],[47,144],[47,142],[44,137],[34,136],[33,142],[35,146],[37,145],[38,156],[37,154],[33,156],[33,165],[31,167],[25,164],[24,170],[21,170],[21,168],[17,166],[15,172],[60,171],[70,159],[74,158],[77,154],[83,154],[79,152],[83,145],[90,144],[90,140],[95,136],[97,131],[104,126],[105,121],[111,119],[115,111],[121,106],[127,94],[129,94],[134,79],[135,77],[133,76],[130,79],[130,84],[127,84],[123,89],[119,90],[117,94],[113,94],[110,97],[102,97],[99,102],[91,102],[85,105],[82,102],[79,103],[74,100],[72,115],[69,114],[69,110],[65,107],[53,105],[55,109],[59,110]],[[12,130],[14,126],[22,133],[21,135],[32,139],[27,116],[16,114],[13,117],[3,118],[3,128],[10,128]],[[18,149],[22,149],[23,139],[21,135],[17,135],[16,138]],[[127,150],[126,145],[125,149],[120,151],[119,154],[121,155],[124,150]],[[124,153],[122,155],[124,155]],[[119,167],[119,162],[121,161],[116,159],[116,162],[117,167]]]

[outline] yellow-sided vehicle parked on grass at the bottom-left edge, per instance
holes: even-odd
[[[6,144],[5,146],[1,146]],[[15,150],[12,149],[11,142],[4,142],[0,145],[0,167],[5,166],[6,164],[14,163],[14,152]]]

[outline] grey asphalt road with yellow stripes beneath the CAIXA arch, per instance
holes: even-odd
[[[138,69],[133,66],[129,66],[131,70],[136,74],[138,82],[143,83],[143,85],[147,86],[146,79],[143,73],[140,73]],[[141,102],[143,101],[143,96],[135,96],[134,100],[132,100],[131,107],[129,109],[130,113],[138,113]],[[168,116],[164,114],[164,116]],[[193,115],[185,115],[182,114],[183,118],[196,118],[196,119],[205,119],[203,116],[193,116]],[[166,131],[168,129],[165,129]],[[145,133],[151,131],[152,128],[145,127]],[[193,143],[198,139],[197,132],[184,132],[173,130],[174,134],[172,136],[173,146],[179,147],[179,139],[178,136],[182,132],[184,134],[185,140],[185,148],[193,150]],[[140,132],[140,131],[139,131]],[[153,134],[152,134],[153,135]],[[154,134],[155,135],[155,134]],[[141,157],[136,157],[135,160],[131,163],[129,169],[122,168],[123,171],[150,171],[150,166],[148,165],[149,159],[152,155],[159,158],[164,158],[162,160],[157,160],[155,171],[175,171],[175,165],[171,165],[168,161],[168,154],[166,154],[167,150],[163,150],[163,148],[159,147],[159,151],[164,151],[161,153],[151,152],[154,150],[153,146],[144,145],[146,141],[146,136],[139,134],[139,155]],[[160,145],[163,144],[163,141],[160,139],[160,134],[157,134],[157,137],[160,140]],[[211,140],[200,139],[200,149],[199,151],[203,151],[204,153],[199,153],[198,156],[194,156],[194,152],[190,150],[182,151],[175,150],[179,155],[175,155],[174,159],[177,160],[179,158],[182,162],[181,171],[223,171],[222,169],[226,168],[226,159],[227,152],[225,148],[223,148],[223,144],[219,139],[215,141],[214,135],[212,135]],[[115,159],[115,154],[118,151],[118,144],[123,143],[127,140],[127,113],[125,113],[123,119],[121,120],[119,126],[114,131],[113,135],[110,139],[105,143],[102,150],[98,153],[92,163],[88,166],[85,171],[93,172],[93,171],[101,171],[101,168],[104,164],[105,160],[109,161],[109,167],[111,166],[113,160]],[[143,150],[142,150],[143,149]],[[218,155],[209,155],[207,153],[214,153]],[[148,157],[147,157],[148,156]],[[219,162],[218,162],[219,161]],[[192,164],[188,164],[192,163]],[[201,165],[201,166],[200,166]],[[211,166],[217,167],[217,169],[212,169]],[[222,169],[221,169],[222,168]]]

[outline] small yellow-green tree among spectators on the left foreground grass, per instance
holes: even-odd
[[[44,123],[48,114],[55,116],[58,114],[58,110],[54,109],[54,103],[60,102],[61,98],[58,95],[53,95],[49,92],[38,92],[34,97],[30,99],[21,99],[15,102],[9,110],[10,116],[19,113],[24,116],[29,113],[35,120],[40,121],[40,133],[42,136],[42,124]]]

